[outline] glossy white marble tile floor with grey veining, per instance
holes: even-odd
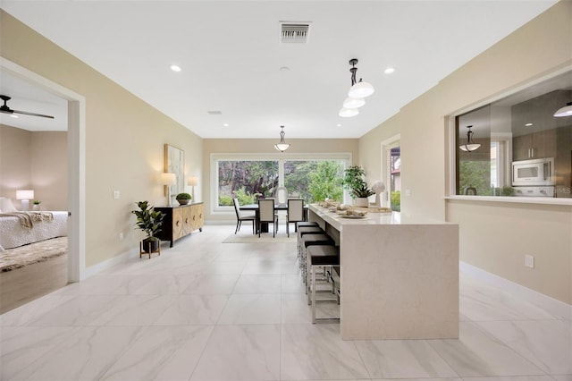
[[[295,244],[221,243],[233,232],[206,225],[0,316],[0,379],[572,380],[569,318],[463,272],[458,340],[342,341],[310,322]]]

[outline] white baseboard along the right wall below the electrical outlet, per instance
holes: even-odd
[[[572,320],[572,305],[567,304],[563,301],[558,301],[551,298],[548,295],[544,295],[541,292],[529,289],[521,284],[509,281],[499,275],[494,275],[482,268],[469,265],[466,262],[458,262],[459,271],[464,272],[468,275],[473,275],[476,278],[482,279],[485,282],[492,284],[493,286],[499,287],[502,290],[512,293],[513,295],[529,301],[534,305],[545,309],[551,315],[555,317],[564,318]]]

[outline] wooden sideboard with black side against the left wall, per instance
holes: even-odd
[[[172,207],[155,207],[165,214],[163,226],[158,237],[161,241],[177,241],[195,230],[203,231],[205,224],[205,207],[202,202]]]

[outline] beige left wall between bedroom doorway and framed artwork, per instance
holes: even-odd
[[[4,58],[86,99],[86,266],[136,249],[133,203],[165,202],[158,184],[164,144],[185,151],[189,174],[202,168],[202,140],[9,14],[0,16]]]

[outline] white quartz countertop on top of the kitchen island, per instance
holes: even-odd
[[[401,216],[400,212],[379,213],[372,211],[368,212],[364,218],[347,218],[336,211],[327,207],[320,207],[317,204],[311,204],[309,209],[338,230],[341,230],[344,225],[352,224],[448,224],[444,221]]]

